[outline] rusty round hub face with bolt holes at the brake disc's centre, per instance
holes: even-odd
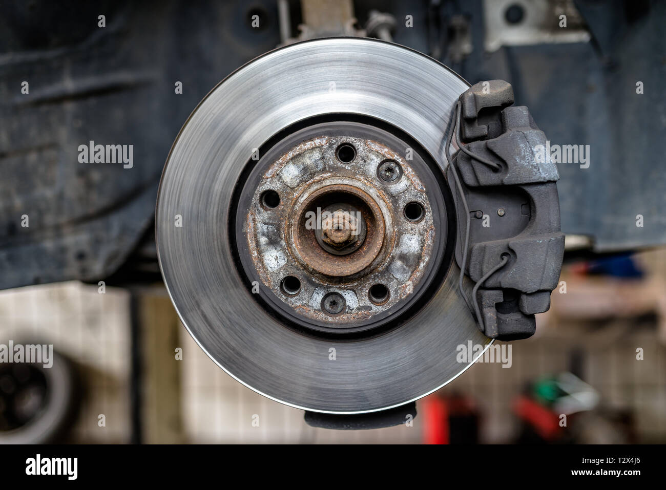
[[[437,182],[406,142],[366,124],[292,134],[242,190],[244,269],[271,308],[302,326],[340,333],[385,324],[442,261]]]

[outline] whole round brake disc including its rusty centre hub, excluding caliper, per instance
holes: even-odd
[[[472,364],[458,346],[490,340],[458,292],[444,178],[468,87],[416,51],[340,38],[266,53],[206,96],[156,228],[172,302],[218,366],[287,405],[364,413]]]

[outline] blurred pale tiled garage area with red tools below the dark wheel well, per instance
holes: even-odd
[[[566,293],[553,292],[533,338],[511,344],[510,367],[476,364],[418,401],[413,425],[387,429],[313,428],[301,410],[244,387],[194,343],[160,284],[105,294],[81,282],[0,292],[0,339],[53,344],[73,363],[81,389],[71,392],[75,413],[61,421],[59,441],[664,443],[665,259],[660,248],[567,264]],[[557,401],[569,393],[558,385],[567,373],[586,386],[571,390],[579,399],[561,427],[559,414],[569,412]],[[26,417],[41,416],[29,398],[13,395]]]

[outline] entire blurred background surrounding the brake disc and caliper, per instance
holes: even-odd
[[[559,166],[561,283],[511,367],[468,369],[419,401],[412,425],[332,431],[198,348],[157,267],[159,176],[208,90],[312,35],[298,29],[306,3],[0,1],[0,344],[53,344],[67,366],[0,365],[0,443],[665,443],[659,2],[354,2],[354,29],[388,13],[394,25],[366,35],[388,32],[470,83],[505,79],[553,142],[591,146],[589,168]],[[135,144],[134,171],[77,166],[95,139]],[[39,420],[48,429],[28,430]]]

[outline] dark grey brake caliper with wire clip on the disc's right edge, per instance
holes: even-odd
[[[513,89],[505,81],[465,91],[450,131],[460,150],[448,156],[461,224],[459,286],[479,328],[498,340],[534,334],[534,314],[550,307],[564,253],[557,168],[536,162],[534,148],[545,147],[545,134],[527,107],[512,104]],[[464,275],[474,282],[470,296]]]

